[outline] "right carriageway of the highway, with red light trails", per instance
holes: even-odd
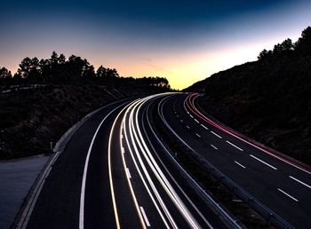
[[[291,226],[311,225],[311,172],[302,163],[245,139],[195,104],[197,94],[163,99],[163,119],[171,130],[227,178]],[[290,140],[290,139],[289,139]]]

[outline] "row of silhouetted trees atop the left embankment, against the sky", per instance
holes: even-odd
[[[21,84],[98,84],[107,86],[156,86],[170,89],[164,77],[123,77],[115,68],[100,66],[96,71],[87,59],[71,55],[68,59],[63,54],[52,52],[50,59],[25,58],[18,71],[12,75],[5,67],[0,67],[0,85]]]

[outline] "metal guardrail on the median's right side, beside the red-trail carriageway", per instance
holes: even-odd
[[[162,108],[162,107],[161,107]],[[267,224],[275,225],[278,228],[294,228],[292,225],[287,223],[282,217],[275,214],[274,211],[271,209],[268,209],[265,205],[263,205],[260,201],[256,200],[255,197],[253,197],[250,193],[247,193],[241,186],[238,186],[235,184],[234,181],[232,181],[230,178],[227,178],[226,175],[224,175],[222,172],[220,172],[216,167],[214,167],[211,162],[208,162],[206,159],[203,158],[200,154],[195,152],[193,148],[188,146],[180,137],[179,135],[171,129],[171,126],[166,122],[165,118],[163,117],[163,123],[168,127],[168,129],[171,131],[171,136],[175,137],[177,140],[177,143],[179,146],[183,146],[185,148],[185,151],[190,154],[196,161],[201,162],[203,169],[210,172],[210,174],[214,178],[218,178],[219,181],[227,186],[229,190],[231,190],[232,193],[234,193],[237,197],[239,197],[241,200],[248,203],[249,207],[251,209],[254,209],[259,213],[259,215],[267,221]]]

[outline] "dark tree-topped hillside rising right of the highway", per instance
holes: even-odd
[[[260,143],[311,165],[311,28],[286,39],[258,61],[196,83],[203,109]]]

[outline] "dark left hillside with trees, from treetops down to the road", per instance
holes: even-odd
[[[25,58],[12,76],[0,67],[0,159],[51,153],[50,142],[109,102],[170,90],[163,77],[122,77],[116,69],[52,53]]]

